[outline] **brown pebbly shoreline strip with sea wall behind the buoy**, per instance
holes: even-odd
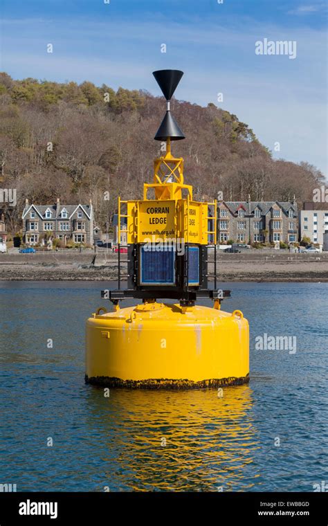
[[[214,270],[212,267],[210,264],[209,273]],[[122,262],[123,274],[125,269]],[[0,282],[116,281],[117,272],[117,255],[113,253],[0,255]],[[219,253],[217,282],[328,282],[328,252],[317,255],[275,251]],[[213,280],[208,283],[210,286]]]

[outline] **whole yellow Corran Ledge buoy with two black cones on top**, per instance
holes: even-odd
[[[171,141],[184,138],[170,114],[170,98],[182,75],[154,72],[167,99],[155,136],[166,141],[165,155],[154,162],[154,182],[144,184],[143,200],[118,198],[118,289],[102,291],[114,311],[100,307],[86,322],[90,383],[203,388],[249,379],[248,321],[239,310],[221,311],[230,291],[217,290],[217,203],[194,200],[192,186],[184,183],[183,158],[171,152]],[[127,289],[121,289],[122,237]],[[208,278],[214,289],[208,289]],[[126,298],[143,303],[120,309],[119,301]],[[174,302],[157,302],[161,298]],[[195,305],[197,298],[211,298],[214,308]]]

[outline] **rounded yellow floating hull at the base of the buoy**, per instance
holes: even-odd
[[[93,314],[86,322],[89,383],[203,388],[248,379],[249,330],[242,313],[153,303]]]

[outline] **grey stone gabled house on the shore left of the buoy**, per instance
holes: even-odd
[[[23,241],[28,245],[46,245],[49,239],[93,245],[93,206],[26,204],[23,212]]]

